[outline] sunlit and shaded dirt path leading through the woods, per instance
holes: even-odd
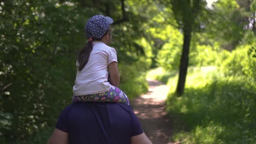
[[[175,144],[170,141],[173,134],[173,122],[164,111],[167,85],[161,85],[155,80],[148,80],[148,84],[148,93],[131,101],[132,108],[140,119],[145,134],[153,144]]]

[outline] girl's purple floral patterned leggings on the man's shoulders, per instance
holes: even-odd
[[[125,103],[129,105],[129,99],[127,95],[121,89],[115,86],[111,86],[111,88],[107,92],[102,92],[99,94],[91,94],[91,95],[73,95],[72,102],[85,102],[85,101],[93,101],[93,102],[118,102]]]

